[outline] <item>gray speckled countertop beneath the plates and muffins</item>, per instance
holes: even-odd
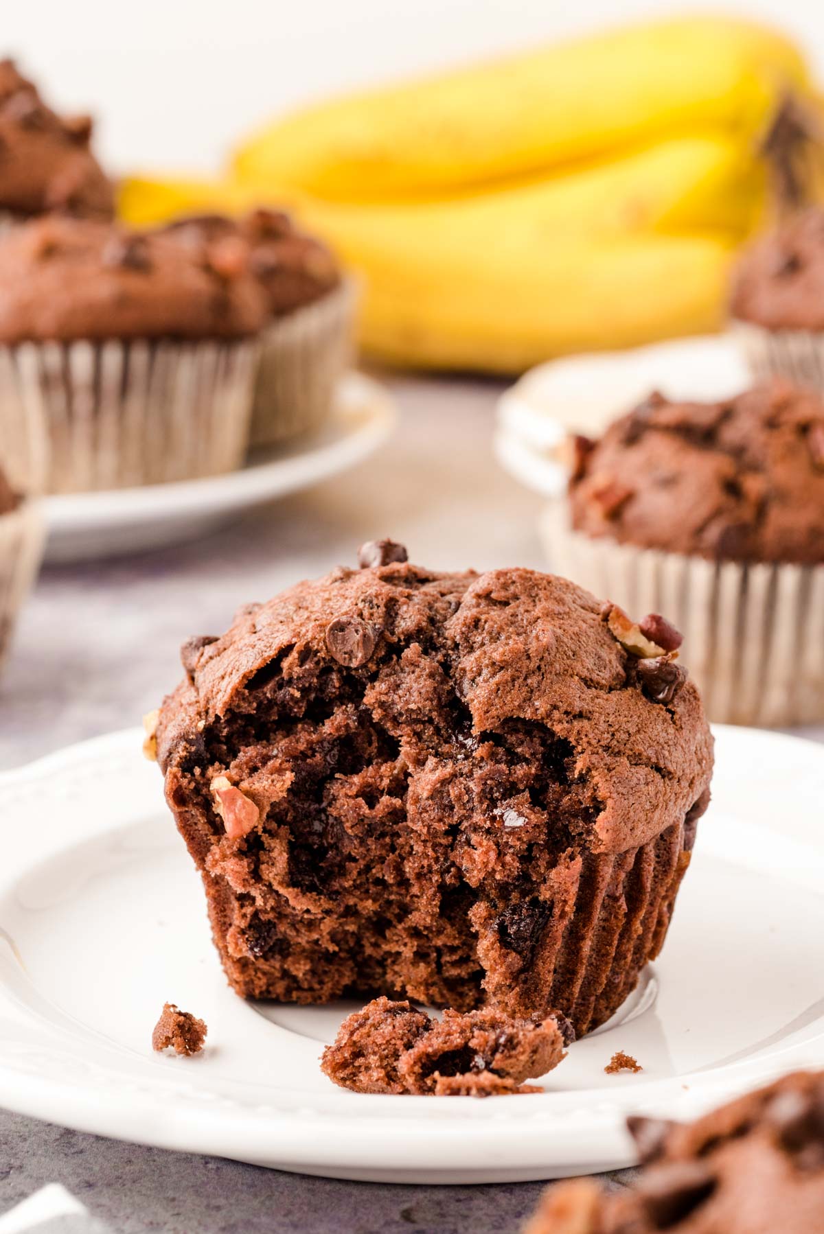
[[[500,387],[423,380],[393,387],[401,408],[394,441],[348,474],[205,540],[44,571],[0,680],[0,769],[140,722],[178,680],[184,637],[225,628],[243,601],[338,561],[355,564],[364,539],[389,534],[436,568],[544,566],[540,500],[492,457]],[[52,1181],[117,1234],[514,1234],[541,1190],[300,1177],[0,1111],[0,1213]]]

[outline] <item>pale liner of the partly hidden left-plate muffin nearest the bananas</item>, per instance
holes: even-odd
[[[329,418],[335,385],[352,359],[357,286],[348,279],[262,336],[252,445],[314,432]]]

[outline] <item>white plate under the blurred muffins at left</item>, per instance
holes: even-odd
[[[80,561],[203,536],[250,506],[355,466],[387,439],[394,422],[388,390],[371,378],[350,373],[338,386],[332,422],[321,433],[258,453],[240,471],[179,484],[48,497],[46,560]]]

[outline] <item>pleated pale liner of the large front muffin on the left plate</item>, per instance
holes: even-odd
[[[44,491],[220,475],[248,444],[257,343],[133,339],[0,347],[0,432],[25,473],[42,426]]]

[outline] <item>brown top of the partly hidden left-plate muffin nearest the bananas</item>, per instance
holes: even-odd
[[[274,317],[320,300],[341,281],[326,244],[298,231],[279,210],[254,210],[237,221],[225,215],[195,215],[166,230],[193,247],[241,237],[250,248],[250,269],[264,288]]]

